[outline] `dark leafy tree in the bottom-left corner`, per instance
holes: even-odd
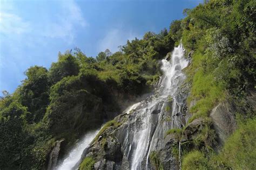
[[[1,169],[20,169],[28,158],[28,145],[33,140],[24,130],[26,114],[26,108],[17,102],[12,102],[0,111]]]

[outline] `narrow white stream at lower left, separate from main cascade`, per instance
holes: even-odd
[[[69,155],[63,160],[63,162],[57,167],[58,170],[71,170],[77,162],[80,160],[81,155],[86,147],[90,145],[92,140],[96,137],[100,129],[89,131],[85,134],[83,139],[76,144],[76,146],[70,151]]]

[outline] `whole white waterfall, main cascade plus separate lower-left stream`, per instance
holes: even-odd
[[[186,112],[186,94],[181,93],[183,88],[180,86],[186,78],[182,69],[188,65],[188,61],[184,58],[182,45],[180,44],[174,48],[170,61],[163,59],[161,63],[163,76],[161,76],[154,94],[127,108],[122,114],[122,118],[125,118],[122,125],[113,131],[109,129],[111,135],[117,138],[122,147],[122,163],[124,164],[121,165],[119,160],[113,162],[112,158],[111,160],[103,158],[97,162],[97,165],[109,169],[113,169],[113,166],[118,167],[117,169],[152,169],[151,153],[154,151],[154,154],[158,154],[166,145],[170,145],[165,143],[167,130],[182,128],[186,125],[190,115]],[[87,137],[87,141],[82,142],[84,144],[78,145],[77,148],[71,151],[68,158],[58,169],[72,169],[75,165],[78,165],[80,155],[89,146],[97,132],[91,133],[90,140]],[[180,145],[179,143],[179,156],[181,155]],[[97,151],[97,147],[92,146],[88,154],[97,154],[93,153],[93,150],[96,149],[95,151]],[[156,156],[158,157],[158,155]],[[170,164],[175,163],[171,162]]]

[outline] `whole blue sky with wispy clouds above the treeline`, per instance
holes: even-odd
[[[58,52],[78,47],[95,57],[147,31],[168,29],[183,9],[202,1],[0,0],[0,90],[13,93],[26,69],[49,68]]]

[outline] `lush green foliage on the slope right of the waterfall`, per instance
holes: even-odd
[[[248,153],[255,144],[252,136],[255,126],[241,125],[227,140],[224,151],[212,158],[216,141],[208,116],[224,99],[239,112],[234,113],[238,120],[247,121],[246,118],[255,116],[255,109],[246,97],[255,90],[256,3],[212,0],[184,13],[186,18],[173,24],[179,28],[177,36],[181,32],[186,53],[192,53],[192,63],[186,69],[187,82],[191,83],[187,102],[193,114],[188,123],[198,118],[208,123],[189,141],[190,146],[183,155],[183,169],[251,169],[253,163],[245,165],[244,162],[255,159],[253,149]]]

